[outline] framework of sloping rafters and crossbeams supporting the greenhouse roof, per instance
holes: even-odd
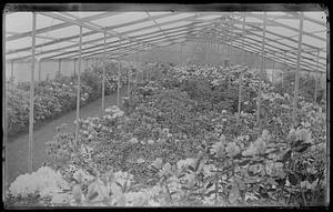
[[[10,20],[11,16],[19,16],[19,13],[9,13],[6,16],[6,19]],[[36,44],[36,58],[40,60],[73,60],[80,57],[78,52],[79,29],[82,28],[84,30],[81,34],[82,59],[100,59],[105,55],[108,58],[119,58],[194,40],[224,43],[254,54],[261,52],[263,20],[260,12],[161,12],[157,14],[145,11],[138,12],[144,13],[145,17],[141,16],[125,22],[102,24],[103,20],[111,20],[127,13],[97,12],[90,16],[81,16],[84,12],[36,12],[37,22],[39,19],[47,17],[60,23],[37,28],[34,33],[32,33],[32,30],[26,32],[7,30],[6,42],[11,43],[36,36],[37,39],[44,40],[44,42]],[[307,16],[306,11],[302,13],[304,21],[321,29],[312,31],[302,29],[302,36],[310,38],[312,42],[303,41],[301,43],[301,69],[304,71],[325,72],[326,46],[319,46],[315,41],[319,43],[326,42],[326,37],[321,34],[326,34],[327,26],[324,21]],[[264,39],[265,58],[290,67],[296,67],[297,34],[300,29],[297,29],[297,24],[293,27],[286,22],[300,21],[300,14],[301,12],[268,12]],[[245,17],[244,20],[243,17]],[[284,23],[281,20],[286,22]],[[243,21],[244,37],[242,32]],[[53,31],[69,27],[77,27],[78,33],[61,38],[52,37]],[[274,30],[274,28],[279,30]],[[283,34],[280,29],[292,31],[294,34]],[[49,34],[46,36],[44,33]],[[100,38],[98,38],[98,34],[100,34]],[[105,46],[103,44],[104,41],[107,42]],[[119,44],[120,41],[121,46]],[[12,44],[10,47],[6,49],[8,62],[30,61],[32,59],[30,54],[31,47],[16,47]],[[285,53],[287,53],[287,58],[282,57]],[[319,62],[316,62],[317,60]]]

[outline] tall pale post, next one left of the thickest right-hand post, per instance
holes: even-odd
[[[261,90],[262,90],[262,81],[263,81],[263,71],[264,71],[264,51],[265,51],[265,37],[266,37],[266,12],[263,14],[263,37],[262,37],[262,46],[261,46],[261,69],[260,69],[260,81],[259,81],[259,91],[258,91],[258,108],[256,108],[256,125],[261,131]]]

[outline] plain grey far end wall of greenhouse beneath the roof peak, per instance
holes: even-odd
[[[185,64],[189,61],[194,61],[200,64],[219,64],[224,60],[230,60],[233,64],[246,64],[250,68],[261,65],[261,57],[254,53],[245,53],[245,60],[241,54],[241,50],[226,44],[206,43],[206,42],[186,42],[176,43],[169,47],[155,48],[147,52],[139,52],[125,57],[127,60],[145,61],[145,62],[165,62],[174,64]],[[271,60],[265,60],[266,69],[282,69],[281,63],[273,63]]]

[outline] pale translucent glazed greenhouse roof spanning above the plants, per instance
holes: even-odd
[[[42,59],[78,58],[80,27],[82,27],[82,51],[84,55],[103,57],[104,32],[107,49],[111,53],[122,48],[132,52],[144,47],[167,47],[191,39],[225,39],[231,31],[235,47],[241,46],[243,17],[245,16],[245,46],[255,53],[261,51],[263,37],[263,12],[37,12],[36,54]],[[289,52],[289,60],[296,64],[300,12],[266,12],[265,51],[276,54]],[[324,12],[303,12],[302,65],[316,68],[317,49],[320,67],[326,64],[326,16]],[[222,19],[221,19],[222,18]],[[226,19],[224,19],[226,18]],[[232,20],[233,18],[233,20]],[[232,21],[232,22],[231,22]],[[205,33],[209,32],[209,33]],[[6,14],[6,60],[31,60],[32,12]],[[226,40],[228,41],[228,40]],[[141,42],[145,44],[142,46]],[[190,42],[190,40],[189,40]],[[138,43],[141,43],[138,46]],[[230,43],[230,41],[229,41]],[[305,51],[306,49],[306,51]],[[307,51],[307,50],[313,51]],[[127,49],[125,51],[129,51]],[[321,70],[324,71],[324,70]]]

